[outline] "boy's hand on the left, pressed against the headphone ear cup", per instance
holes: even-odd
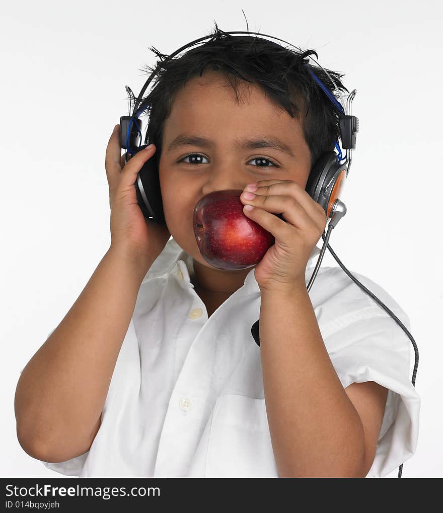
[[[143,164],[156,147],[137,152],[125,163],[120,147],[120,125],[115,125],[106,148],[105,169],[111,208],[111,247],[123,250],[138,261],[150,265],[170,238],[166,226],[146,220],[137,203],[134,183]]]

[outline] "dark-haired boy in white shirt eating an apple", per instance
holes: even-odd
[[[304,188],[338,134],[331,102],[302,66],[308,53],[217,31],[160,69],[148,96],[153,147],[124,165],[115,127],[111,247],[16,391],[19,441],[48,468],[365,477],[412,456],[419,397],[406,334],[338,267],[320,268],[306,291],[326,218]],[[133,203],[149,158],[167,230],[141,224]],[[275,236],[253,268],[224,271],[199,253],[194,206],[223,189],[243,190],[254,207],[245,215]],[[409,327],[386,291],[353,274]]]

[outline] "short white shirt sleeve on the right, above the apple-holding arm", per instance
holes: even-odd
[[[398,305],[387,305],[410,331]],[[414,454],[418,440],[420,398],[411,382],[412,343],[405,331],[378,305],[335,322],[324,339],[343,385],[374,381],[388,389],[374,462],[367,477],[384,477]],[[330,326],[331,328],[331,326]]]

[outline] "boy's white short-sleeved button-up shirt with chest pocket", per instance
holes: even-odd
[[[306,285],[319,252],[307,263]],[[410,329],[386,291],[351,272]],[[43,462],[48,468],[80,477],[279,477],[251,334],[260,312],[254,268],[209,319],[192,273],[192,258],[170,239],[140,286],[89,451]],[[320,267],[309,295],[343,388],[375,381],[389,389],[368,473],[386,476],[417,446],[411,342],[340,267]]]

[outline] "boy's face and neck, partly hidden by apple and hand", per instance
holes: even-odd
[[[259,180],[294,180],[304,189],[311,170],[311,153],[298,120],[280,110],[252,84],[244,87],[242,83],[239,96],[237,103],[232,87],[216,72],[192,78],[177,94],[164,123],[159,165],[169,232],[194,259],[196,283],[206,291],[226,295],[243,285],[252,268],[225,271],[202,258],[193,228],[197,202],[210,192],[242,190]],[[198,135],[213,145],[169,149],[178,135]],[[241,149],[235,144],[236,140],[263,136],[278,139],[291,149],[293,156],[274,148]],[[200,156],[185,158],[189,153]],[[272,162],[280,167],[274,167]]]

